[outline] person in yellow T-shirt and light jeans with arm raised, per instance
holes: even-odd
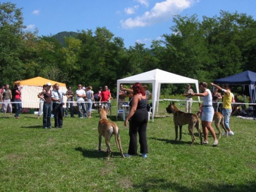
[[[230,120],[230,115],[232,113],[232,94],[230,91],[230,88],[228,86],[228,84],[224,84],[223,88],[221,88],[220,86],[211,83],[212,86],[214,86],[215,88],[217,88],[218,90],[221,90],[222,92],[224,92],[224,96],[223,96],[223,105],[222,105],[222,115],[224,116],[224,126],[226,128],[226,130],[228,131],[228,135],[232,136],[234,135],[234,132],[232,132],[232,130],[230,129],[229,126],[229,120]]]

